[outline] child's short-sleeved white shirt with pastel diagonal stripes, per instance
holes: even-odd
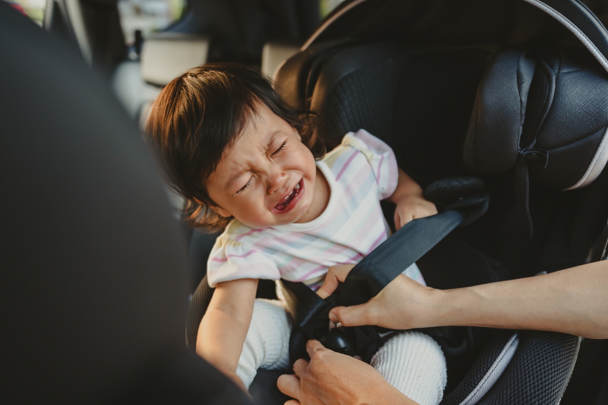
[[[328,267],[356,264],[387,239],[390,228],[379,202],[397,185],[392,149],[361,129],[345,135],[316,164],[331,189],[325,211],[311,222],[259,229],[232,220],[209,256],[211,287],[235,279],[282,278],[316,290]],[[415,264],[404,273],[424,283]]]

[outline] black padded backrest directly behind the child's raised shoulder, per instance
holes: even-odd
[[[426,185],[466,172],[454,151],[462,149],[460,134],[488,54],[484,47],[347,47],[323,62],[309,107],[326,121],[328,149],[348,131],[365,128],[389,143],[399,165]]]

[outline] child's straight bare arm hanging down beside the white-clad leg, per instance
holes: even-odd
[[[257,279],[219,283],[196,336],[196,353],[245,391],[235,372],[254,311],[257,287]]]

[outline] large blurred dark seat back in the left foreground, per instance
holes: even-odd
[[[105,80],[0,2],[2,396],[252,404],[185,347],[182,234]]]

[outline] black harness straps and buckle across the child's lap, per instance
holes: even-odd
[[[387,330],[372,326],[330,330],[328,313],[331,308],[369,301],[454,228],[485,213],[488,200],[486,194],[458,198],[440,214],[407,223],[364,257],[350,271],[339,290],[325,300],[302,283],[282,280],[283,293],[295,319],[289,342],[292,361],[307,358],[306,341],[313,338],[336,352],[370,359],[382,344],[379,333]],[[466,349],[463,339],[455,339],[448,328],[424,328],[424,332],[440,342],[447,352]]]

